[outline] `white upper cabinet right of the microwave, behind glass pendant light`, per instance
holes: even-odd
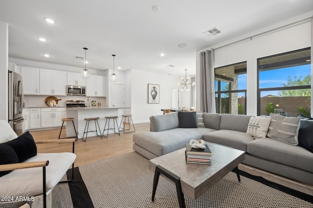
[[[105,83],[105,76],[90,75],[87,80],[86,96],[106,97]]]

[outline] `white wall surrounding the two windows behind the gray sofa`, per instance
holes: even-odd
[[[312,17],[313,11],[310,13],[303,14],[296,18],[280,22],[278,24],[272,25],[267,28],[260,29],[250,34],[246,34],[237,40],[230,40],[229,42],[224,42],[219,45],[213,45],[204,50],[209,50],[211,48],[217,48],[219,46],[225,45],[230,42],[235,42],[242,40],[244,38],[259,34],[261,32],[268,31],[270,29],[277,28],[279,26],[287,25],[289,23],[303,20]],[[214,67],[224,66],[228,64],[233,64],[237,62],[247,62],[247,94],[246,94],[246,114],[256,115],[257,114],[257,59],[275,55],[279,53],[284,53],[292,50],[297,50],[301,48],[306,48],[311,46],[311,21],[305,21],[298,23],[289,27],[285,27],[280,30],[276,30],[255,38],[252,40],[246,40],[243,42],[238,42],[214,51]],[[197,52],[197,83],[200,83],[200,61],[199,54],[201,51]],[[197,91],[199,92],[199,86]],[[200,109],[200,95],[197,94],[197,108]]]

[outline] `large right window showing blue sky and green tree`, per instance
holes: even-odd
[[[258,59],[258,115],[311,116],[311,49]]]

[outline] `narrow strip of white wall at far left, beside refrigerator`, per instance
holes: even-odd
[[[0,119],[8,121],[8,24],[0,21]]]

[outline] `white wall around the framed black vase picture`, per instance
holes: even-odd
[[[129,76],[129,75],[128,75]],[[177,86],[180,77],[145,71],[131,70],[131,104],[134,123],[150,122],[152,115],[163,114],[162,108],[172,106],[172,86]],[[160,103],[148,104],[148,83],[160,85]]]

